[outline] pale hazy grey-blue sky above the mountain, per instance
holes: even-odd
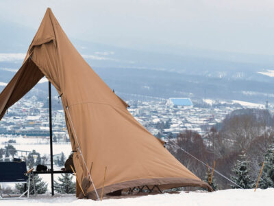
[[[274,55],[273,0],[0,0],[0,18],[37,30],[47,7],[87,41]]]

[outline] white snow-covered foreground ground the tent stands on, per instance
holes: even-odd
[[[103,201],[78,200],[74,195],[55,196],[38,195],[30,196],[28,200],[5,200],[0,201],[0,204],[10,206],[58,206],[58,205],[274,205],[274,188],[267,190],[258,189],[254,192],[253,189],[241,190],[219,190],[216,192],[181,192],[179,194],[155,194],[148,196],[123,196],[121,197],[106,197]]]

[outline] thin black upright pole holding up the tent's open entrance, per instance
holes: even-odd
[[[51,148],[51,195],[54,195],[53,187],[53,150],[52,150],[52,119],[51,119],[51,82],[49,82],[49,144]]]

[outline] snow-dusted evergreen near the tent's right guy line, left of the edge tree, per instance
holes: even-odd
[[[234,175],[231,176],[232,181],[240,185],[240,187],[244,189],[250,189],[253,187],[253,181],[249,176],[249,161],[247,161],[245,153],[240,155],[240,159],[236,161],[232,172],[234,173]],[[232,188],[238,187],[236,185],[232,185]]]

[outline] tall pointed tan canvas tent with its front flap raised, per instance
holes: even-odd
[[[212,190],[132,117],[127,104],[73,47],[50,9],[22,67],[0,95],[0,119],[43,76],[62,96],[77,176],[90,181],[88,198],[101,194],[105,166],[103,194],[142,185]]]

